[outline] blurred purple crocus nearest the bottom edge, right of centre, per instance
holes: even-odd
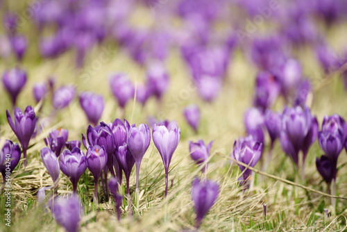
[[[193,181],[192,200],[196,213],[195,227],[198,228],[203,221],[203,217],[217,200],[219,185],[214,181],[199,181],[197,178]]]

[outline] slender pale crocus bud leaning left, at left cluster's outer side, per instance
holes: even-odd
[[[54,154],[54,152],[51,151],[51,149],[49,149],[48,147],[44,147],[41,149],[41,159],[47,171],[49,172],[49,175],[51,175],[54,185],[57,186],[59,181],[60,168],[56,154]]]

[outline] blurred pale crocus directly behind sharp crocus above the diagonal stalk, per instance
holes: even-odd
[[[249,135],[258,142],[264,143],[264,115],[258,108],[249,108],[244,114],[244,124]]]

